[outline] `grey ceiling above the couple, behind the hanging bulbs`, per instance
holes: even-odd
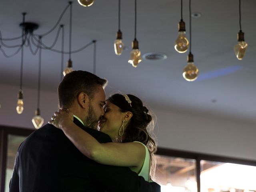
[[[189,39],[188,0],[183,0],[183,19]],[[56,24],[68,2],[62,0],[1,0],[0,30],[2,38],[21,35],[19,24],[22,12],[26,21],[36,22],[35,34],[43,34]],[[187,82],[182,77],[188,52],[174,50],[180,21],[180,0],[138,0],[137,40],[142,54],[161,52],[166,60],[142,60],[137,68],[128,63],[134,39],[134,1],[121,1],[121,30],[126,50],[114,54],[114,40],[118,30],[118,0],[95,0],[90,7],[73,2],[72,50],[97,40],[96,74],[107,78],[107,95],[117,91],[135,94],[150,106],[198,114],[214,114],[232,119],[256,122],[255,57],[256,57],[256,1],[243,0],[242,30],[248,49],[243,60],[234,55],[239,31],[238,0],[192,0],[192,12],[202,14],[192,18],[192,54],[199,69],[198,79]],[[65,28],[65,51],[68,51],[69,12],[60,24]],[[43,37],[50,46],[57,30]],[[19,41],[5,42],[19,44]],[[16,48],[4,48],[12,54]],[[61,49],[61,38],[55,49]],[[74,70],[93,72],[93,45],[72,54]],[[64,65],[68,54],[64,55]],[[60,82],[61,55],[42,50],[42,89],[56,92]],[[33,56],[24,48],[23,86],[37,88],[38,54]],[[0,84],[19,86],[20,53],[5,58],[0,52]],[[18,93],[18,90],[17,90]]]

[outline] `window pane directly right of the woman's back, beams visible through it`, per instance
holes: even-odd
[[[161,192],[197,192],[196,160],[156,155],[156,182]]]

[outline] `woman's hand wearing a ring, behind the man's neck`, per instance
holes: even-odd
[[[74,116],[70,110],[60,109],[54,113],[51,119],[52,120],[48,122],[49,124],[63,130],[64,128],[68,128],[69,125],[73,123]]]

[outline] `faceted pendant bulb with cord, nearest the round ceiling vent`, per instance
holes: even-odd
[[[142,61],[140,57],[139,42],[136,39],[136,27],[137,27],[137,0],[135,0],[135,30],[134,30],[134,40],[132,42],[132,52],[130,54],[130,59],[128,63],[132,64],[133,67],[137,67]]]

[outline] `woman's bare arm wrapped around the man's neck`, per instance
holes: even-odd
[[[99,143],[72,121],[71,112],[60,111],[50,124],[63,130],[68,139],[88,158],[107,165],[141,168],[146,155],[145,147],[137,142]]]

